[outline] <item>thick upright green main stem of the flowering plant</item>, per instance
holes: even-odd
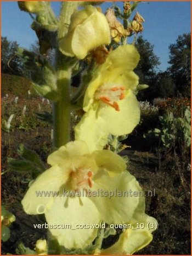
[[[69,28],[72,13],[77,7],[77,2],[63,2],[58,24],[58,40],[66,35]],[[72,63],[69,58],[62,55],[56,49],[56,70],[58,100],[53,104],[53,145],[56,148],[65,145],[70,141],[70,81]]]

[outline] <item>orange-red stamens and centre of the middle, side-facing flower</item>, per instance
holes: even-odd
[[[115,108],[116,111],[120,111],[117,101],[125,98],[125,88],[121,85],[114,85],[112,83],[106,83],[95,91],[94,98],[101,100],[110,107]]]

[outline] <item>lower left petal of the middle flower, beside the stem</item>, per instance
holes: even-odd
[[[97,117],[97,112],[93,109],[85,113],[75,127],[75,139],[85,141],[91,152],[103,149],[108,143],[108,135],[105,121]]]

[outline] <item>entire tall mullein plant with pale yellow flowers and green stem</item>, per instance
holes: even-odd
[[[125,160],[107,145],[111,136],[131,133],[140,120],[135,95],[146,85],[139,85],[133,72],[139,53],[133,43],[127,44],[127,37],[143,29],[138,13],[129,21],[138,3],[125,2],[123,12],[115,7],[105,16],[95,7],[98,2],[61,2],[59,18],[50,2],[18,4],[33,19],[41,53],[19,49],[18,56],[33,87],[53,105],[50,167],[30,183],[21,201],[24,211],[44,214],[49,225],[70,225],[49,228],[48,254],[133,254],[151,242],[157,221],[145,214],[143,190],[126,170]],[[54,66],[47,58],[49,49],[55,52]],[[78,72],[81,83],[72,94],[72,75]],[[72,111],[83,111],[74,141]],[[37,190],[57,191],[58,196],[37,197]],[[109,196],[115,190],[132,190],[139,196]],[[129,228],[115,230],[111,225]],[[116,236],[116,242],[103,248],[109,236]]]

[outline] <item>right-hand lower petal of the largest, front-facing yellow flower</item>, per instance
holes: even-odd
[[[132,195],[133,192],[142,192],[135,177],[127,171],[115,177],[100,171],[94,175],[93,182],[92,189],[103,193],[103,196],[90,197],[99,209],[102,220],[108,224],[130,222],[139,204],[139,197],[129,195],[130,190]]]

